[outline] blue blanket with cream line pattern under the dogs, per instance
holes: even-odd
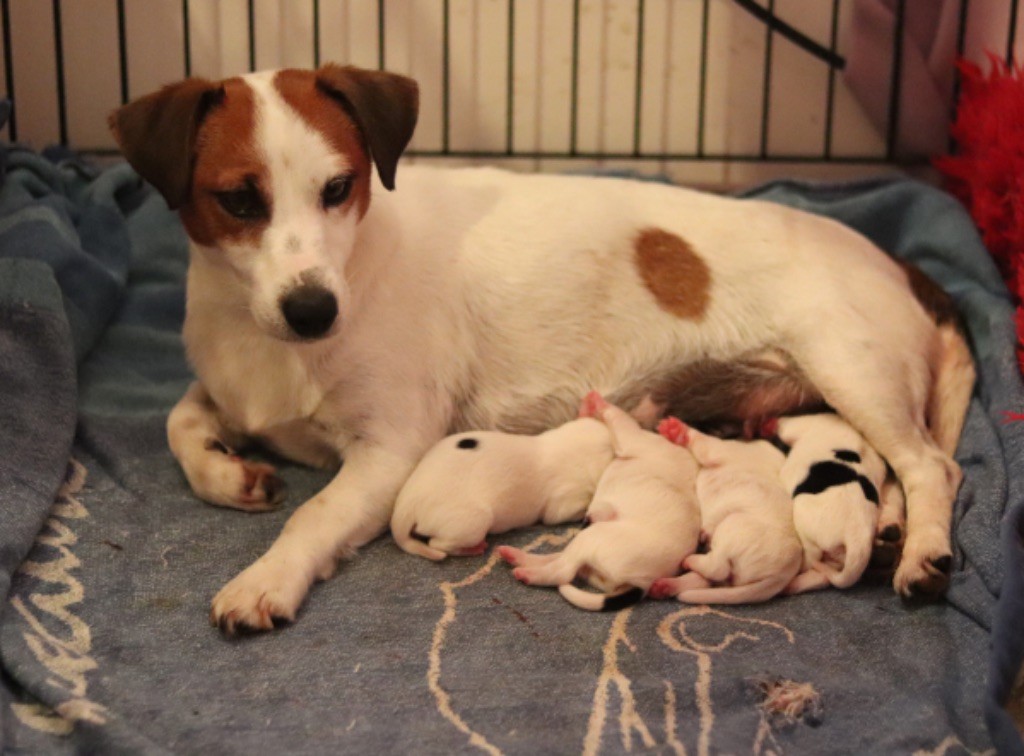
[[[176,217],[125,166],[3,157],[0,751],[1024,750],[1004,708],[1024,653],[1012,306],[942,193],[891,179],[753,194],[860,229],[965,313],[980,380],[946,601],[861,585],[590,615],[492,556],[426,563],[380,539],[294,626],[229,641],[207,625],[210,597],[327,476],[285,466],[289,502],[264,515],[197,501],[164,436],[190,380]]]

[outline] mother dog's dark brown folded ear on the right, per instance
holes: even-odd
[[[394,173],[416,129],[420,89],[412,79],[385,71],[327,64],[316,71],[316,86],[355,119],[381,183],[394,188]]]

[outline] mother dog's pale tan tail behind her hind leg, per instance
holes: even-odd
[[[971,348],[954,323],[939,325],[939,344],[928,396],[928,430],[939,449],[952,457],[977,375]]]

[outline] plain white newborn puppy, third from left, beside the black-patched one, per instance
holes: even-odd
[[[654,581],[653,598],[687,603],[753,603],[782,591],[800,572],[793,503],[779,480],[785,455],[766,440],[723,440],[670,418],[658,430],[689,447],[700,472],[707,554],[686,557],[678,578]]]

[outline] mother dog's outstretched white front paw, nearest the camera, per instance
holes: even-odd
[[[308,583],[296,572],[257,561],[214,596],[210,624],[225,635],[272,630],[295,621],[308,589]]]

